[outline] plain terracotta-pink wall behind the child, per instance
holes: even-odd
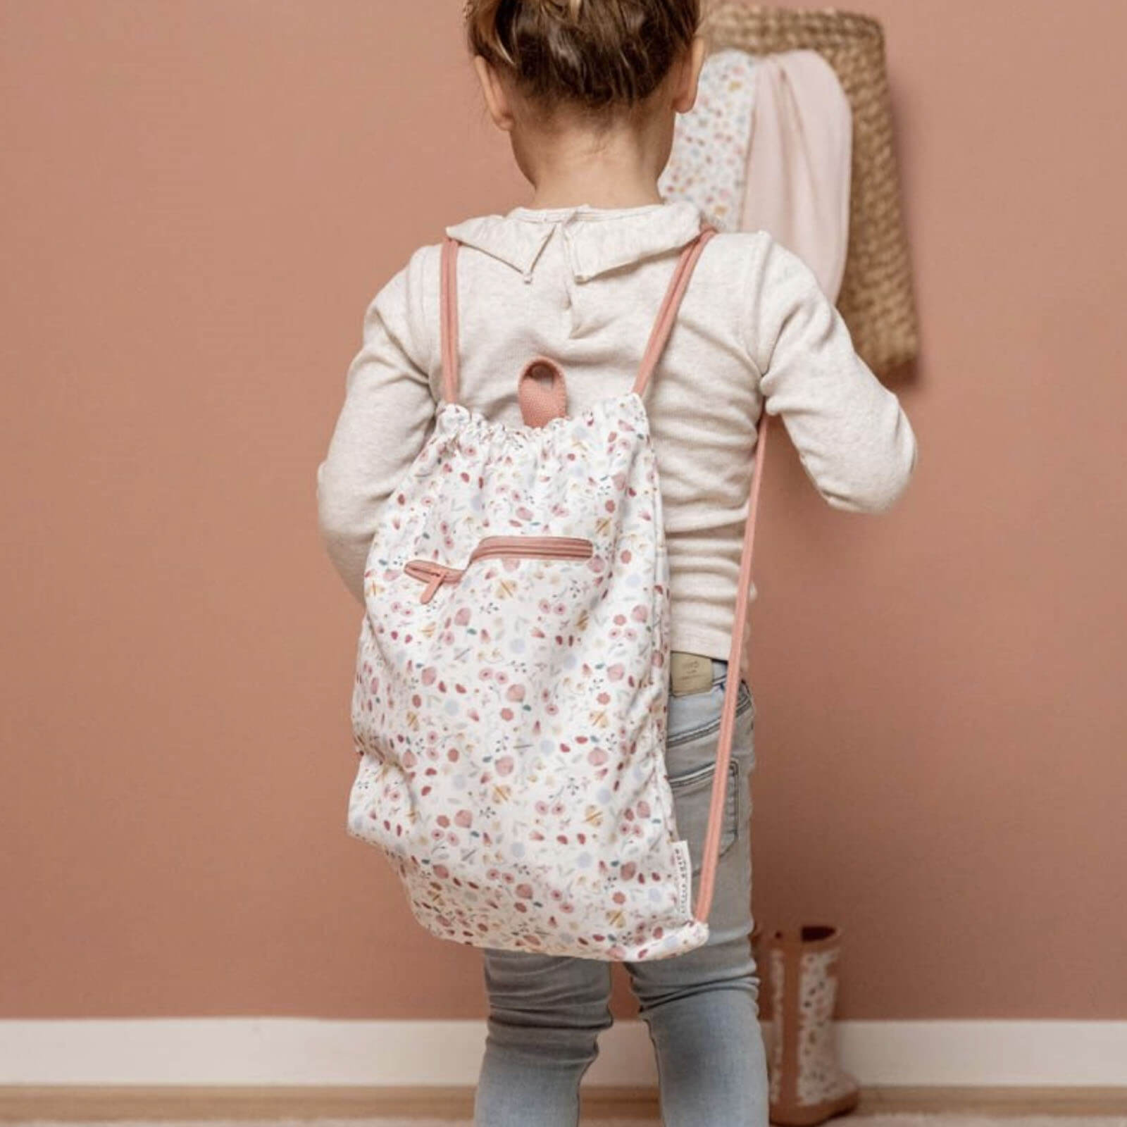
[[[485,1013],[345,833],[314,506],[371,296],[527,198],[459,7],[0,2],[5,1017]],[[843,514],[775,432],[756,914],[842,925],[842,1018],[1122,1018],[1127,11],[866,10],[921,460]]]

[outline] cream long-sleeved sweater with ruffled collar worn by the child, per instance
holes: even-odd
[[[538,353],[564,369],[573,414],[628,391],[677,254],[700,223],[695,204],[676,201],[516,207],[446,228],[463,242],[461,401],[520,425],[516,380]],[[440,251],[441,242],[419,247],[369,304],[317,470],[321,538],[361,603],[380,507],[441,398]],[[766,231],[720,232],[700,256],[646,391],[674,649],[728,656],[764,403],[833,507],[876,513],[904,491],[916,462],[907,416],[854,353],[813,272]]]

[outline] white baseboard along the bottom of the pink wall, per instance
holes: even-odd
[[[770,1024],[763,1024],[770,1040]],[[1127,1085],[1127,1021],[841,1021],[864,1085]],[[0,1021],[0,1084],[472,1086],[483,1020],[142,1018]],[[598,1040],[584,1086],[656,1086],[645,1024]]]

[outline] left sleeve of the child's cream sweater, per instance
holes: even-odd
[[[345,585],[364,602],[364,564],[380,507],[408,471],[434,425],[428,371],[437,350],[424,284],[429,247],[372,299],[363,345],[348,366],[345,400],[328,453],[317,468],[321,540]]]

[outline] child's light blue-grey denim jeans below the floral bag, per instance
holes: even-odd
[[[666,764],[695,885],[716,771],[727,663],[712,686],[669,698]],[[625,962],[657,1059],[665,1127],[767,1127],[766,1054],[752,955],[751,772],[755,706],[739,685],[709,940],[669,959]],[[476,1127],[577,1127],[579,1082],[613,1022],[611,964],[483,949],[489,999]]]

